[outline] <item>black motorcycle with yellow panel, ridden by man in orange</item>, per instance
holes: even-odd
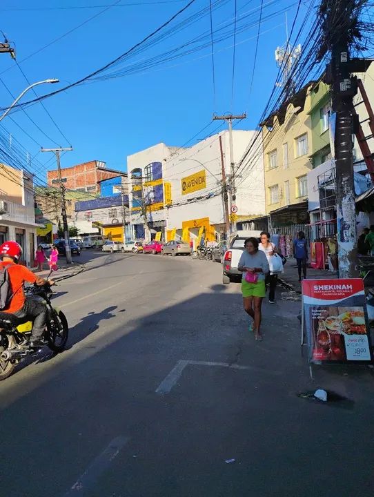
[[[50,284],[29,286],[25,293],[29,298],[47,306],[48,318],[43,342],[53,352],[62,352],[68,341],[68,321],[63,312],[51,304],[53,291]],[[21,360],[39,352],[28,347],[31,332],[32,321],[28,318],[21,319],[13,314],[0,312],[0,381],[8,378]]]

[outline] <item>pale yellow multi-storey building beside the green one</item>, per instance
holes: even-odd
[[[311,87],[308,83],[262,122],[266,214],[273,228],[308,220]]]

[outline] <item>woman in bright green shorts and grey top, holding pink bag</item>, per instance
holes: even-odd
[[[237,269],[243,273],[242,295],[244,311],[253,319],[249,329],[255,333],[256,340],[262,340],[259,328],[262,320],[262,299],[266,295],[265,278],[269,272],[269,264],[265,253],[259,251],[257,238],[250,237],[244,242],[244,251]]]

